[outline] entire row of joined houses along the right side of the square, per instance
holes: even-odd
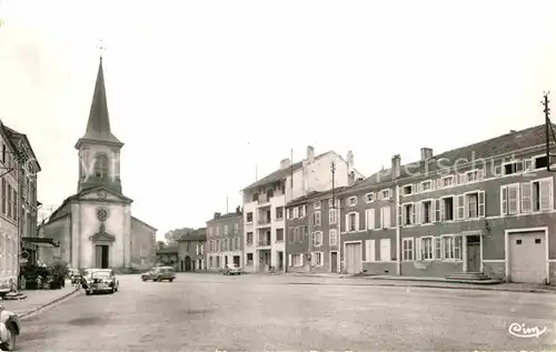
[[[242,190],[207,222],[200,269],[556,280],[554,173],[545,125],[363,177],[354,153],[315,155]]]

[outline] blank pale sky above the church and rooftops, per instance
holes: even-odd
[[[353,150],[369,175],[540,124],[556,95],[550,0],[0,0],[0,118],[30,139],[39,200],[77,191],[102,40],[123,193],[159,238],[232,211],[291,149]]]

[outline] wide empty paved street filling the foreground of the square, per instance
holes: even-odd
[[[556,350],[556,295],[361,285],[358,279],[121,275],[24,321],[20,351]],[[516,338],[512,323],[547,328]]]

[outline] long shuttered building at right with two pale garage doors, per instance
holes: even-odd
[[[510,131],[340,191],[346,273],[556,280],[554,174],[545,125]]]

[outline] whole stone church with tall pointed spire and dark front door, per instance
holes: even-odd
[[[102,58],[87,130],[77,143],[77,193],[68,197],[39,230],[60,245],[44,249],[43,262],[62,260],[73,269],[145,270],[156,260],[157,229],[131,215],[133,200],[123,195],[120,151],[108,113]]]

